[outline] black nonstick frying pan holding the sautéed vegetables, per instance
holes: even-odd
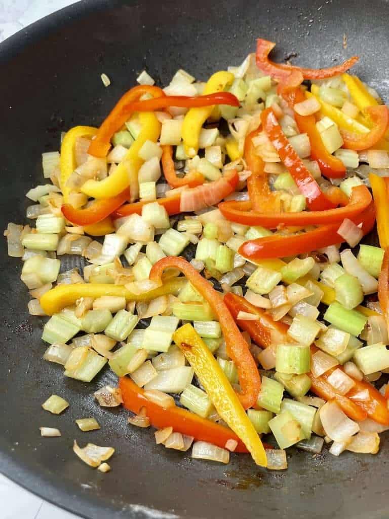
[[[239,64],[261,36],[278,43],[276,59],[293,51],[305,66],[359,54],[356,72],[387,100],[388,15],[384,0],[91,0],[35,23],[0,46],[0,227],[23,221],[24,193],[42,180],[40,153],[58,149],[62,130],[99,125],[145,66],[162,84],[179,67],[206,78]],[[102,72],[112,79],[108,89]],[[277,473],[248,455],[231,456],[227,467],[192,460],[155,445],[151,429],[129,427],[126,412],[100,408],[91,394],[114,377],[107,370],[87,385],[40,360],[42,323],[27,316],[20,263],[5,244],[0,254],[0,470],[11,479],[93,519],[388,516],[385,437],[378,456],[292,450],[289,469]],[[71,402],[58,417],[40,408],[52,393]],[[80,432],[74,419],[87,416],[102,429]],[[59,427],[62,437],[41,439],[40,426]],[[80,462],[73,439],[114,446],[112,472]]]

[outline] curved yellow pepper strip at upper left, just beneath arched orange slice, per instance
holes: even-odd
[[[141,112],[139,119],[142,124],[141,133],[119,166],[104,180],[87,180],[81,186],[82,193],[93,198],[112,198],[130,187],[131,200],[136,200],[139,194],[138,171],[144,162],[138,153],[146,141],[156,142],[161,132],[161,123],[154,113]]]

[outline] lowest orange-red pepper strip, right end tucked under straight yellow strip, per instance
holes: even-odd
[[[144,390],[138,387],[129,377],[119,378],[119,388],[123,398],[123,406],[136,414],[139,414],[141,409],[144,408],[150,424],[158,429],[173,427],[174,432],[193,436],[195,440],[213,443],[223,448],[225,448],[228,440],[235,440],[238,442],[235,452],[248,452],[244,443],[231,429],[191,413],[183,407],[174,405],[165,408],[147,400],[144,396]]]

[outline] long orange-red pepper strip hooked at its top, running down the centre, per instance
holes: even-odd
[[[228,356],[234,361],[238,369],[239,384],[241,387],[241,392],[238,393],[238,396],[241,404],[245,409],[252,407],[258,398],[261,379],[253,356],[248,349],[248,345],[240,333],[238,326],[235,324],[235,321],[232,319],[223,301],[223,297],[182,257],[171,256],[159,260],[153,265],[150,271],[150,280],[161,282],[162,272],[165,268],[178,268],[182,271],[194,288],[198,290],[210,304],[223,331]]]

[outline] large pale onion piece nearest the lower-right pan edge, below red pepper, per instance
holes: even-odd
[[[319,415],[322,420],[323,428],[331,440],[344,442],[348,440],[350,436],[359,432],[358,424],[350,420],[334,401],[324,404],[323,407],[319,409]]]

